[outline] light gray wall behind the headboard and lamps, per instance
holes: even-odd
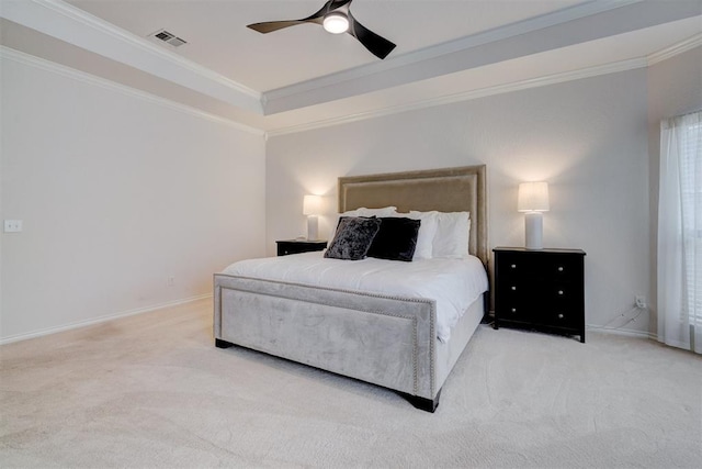
[[[544,245],[587,252],[586,321],[605,325],[650,295],[646,96],[636,69],[272,137],[268,252],[305,233],[305,193],[327,196],[329,235],[339,176],[486,164],[490,246],[523,246],[517,187],[548,181]]]

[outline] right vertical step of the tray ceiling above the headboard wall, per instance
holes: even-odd
[[[592,1],[352,70],[267,91],[265,115],[378,91],[700,14],[701,2]]]

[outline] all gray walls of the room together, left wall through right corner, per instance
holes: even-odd
[[[211,292],[233,260],[304,235],[337,177],[487,164],[490,245],[523,245],[517,186],[547,180],[544,242],[588,253],[587,322],[655,302],[658,122],[702,108],[702,48],[646,69],[264,142],[167,103],[2,64],[0,340]],[[172,286],[168,279],[174,278]],[[655,332],[639,317],[626,328]]]

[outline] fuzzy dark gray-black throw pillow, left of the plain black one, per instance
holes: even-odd
[[[364,259],[380,228],[381,221],[375,217],[342,216],[325,257],[344,260]]]

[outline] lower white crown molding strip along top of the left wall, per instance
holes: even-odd
[[[118,92],[128,97],[138,98],[144,101],[148,101],[158,105],[169,108],[174,111],[184,112],[199,119],[204,119],[217,124],[227,125],[229,127],[247,132],[254,135],[263,136],[264,133],[260,129],[254,129],[245,124],[241,124],[229,119],[220,118],[215,114],[211,114],[199,109],[171,101],[166,98],[158,97],[156,94],[148,93],[146,91],[137,90],[121,83],[117,83],[105,78],[95,77],[94,75],[87,74],[84,71],[76,70],[75,68],[66,67],[64,65],[56,64],[54,62],[46,60],[44,58],[35,57],[30,54],[25,54],[20,51],[12,49],[7,46],[0,45],[0,59],[13,60],[15,63],[27,65],[30,67],[39,68],[42,70],[60,75],[87,85],[100,87],[110,91]]]

